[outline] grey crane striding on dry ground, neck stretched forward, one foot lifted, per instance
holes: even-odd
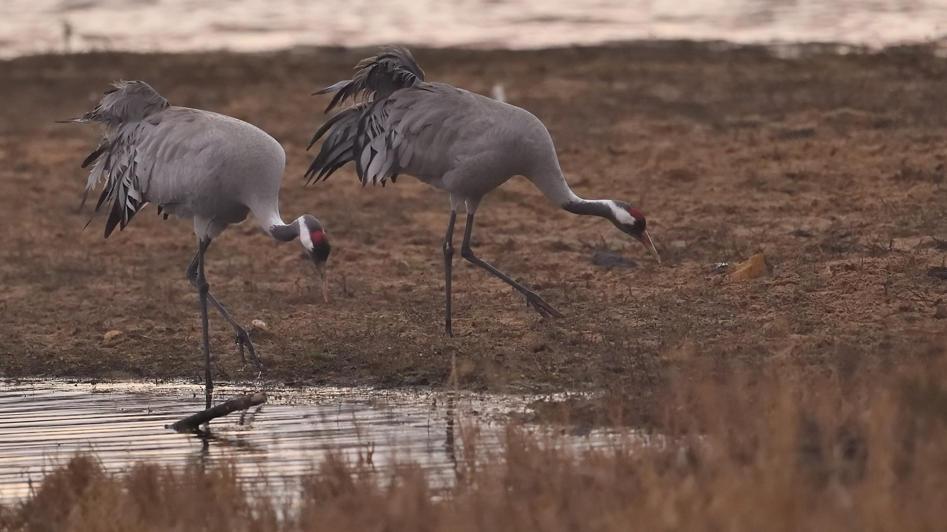
[[[660,261],[645,218],[632,205],[584,200],[565,183],[552,138],[543,122],[524,109],[445,83],[424,81],[424,72],[402,47],[384,47],[359,62],[351,80],[314,94],[335,93],[326,113],[347,98],[353,105],[332,116],[313,135],[310,148],[326,135],[306,172],[307,184],[327,179],[349,161],[362,186],[394,182],[399,174],[446,190],[451,217],[444,237],[444,328],[451,331],[451,264],[457,209],[467,209],[461,257],[523,293],[540,314],[563,317],[538,294],[509,278],[471,251],[474,213],[484,195],[514,175],[523,175],[549,200],[575,213],[599,216],[640,240]]]

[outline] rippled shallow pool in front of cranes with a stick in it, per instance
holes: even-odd
[[[252,391],[223,384],[215,401]],[[25,497],[44,470],[78,451],[94,452],[116,471],[141,460],[184,465],[225,458],[241,476],[262,474],[276,487],[312,470],[328,450],[352,461],[370,453],[376,468],[411,460],[434,482],[450,482],[460,450],[448,441],[445,393],[318,388],[267,395],[268,402],[242,422],[240,413],[213,420],[208,439],[164,428],[204,409],[199,384],[0,384],[0,500]],[[499,430],[509,412],[526,408],[526,400],[461,395],[452,417]]]

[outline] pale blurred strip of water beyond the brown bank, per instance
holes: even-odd
[[[298,45],[537,48],[640,39],[941,39],[943,0],[3,0],[0,57]]]

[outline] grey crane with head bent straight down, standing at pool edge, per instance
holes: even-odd
[[[104,179],[96,212],[102,204],[110,203],[105,238],[116,226],[124,229],[135,213],[149,203],[158,206],[158,214],[164,212],[165,220],[169,214],[193,219],[199,243],[186,275],[200,293],[209,407],[213,383],[207,301],[234,328],[243,363],[245,347],[253,364],[261,367],[246,330],[209,292],[204,257],[211,240],[227,225],[246,220],[252,211],[263,231],[274,239],[285,242],[299,237],[322,276],[323,297],[327,297],[325,264],[329,239],[312,215],[300,216],[289,224],[280,218],[279,184],[286,153],[275,138],[237,118],[170,106],[144,81],[119,81],[114,87],[93,111],[81,118],[64,120],[99,122],[105,130],[102,144],[82,162],[82,168],[95,163],[82,203]]]

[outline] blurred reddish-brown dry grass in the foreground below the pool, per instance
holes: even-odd
[[[945,369],[938,354],[884,377],[675,371],[662,429],[647,438],[590,450],[510,425],[499,451],[460,457],[446,490],[412,464],[382,472],[330,453],[299,483],[295,505],[226,464],[114,474],[79,455],[2,508],[0,527],[937,530],[947,519]]]

